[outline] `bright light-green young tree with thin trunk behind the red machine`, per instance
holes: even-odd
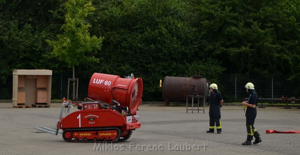
[[[73,99],[75,99],[75,66],[79,64],[99,63],[94,57],[101,49],[103,37],[90,37],[88,28],[91,27],[86,17],[95,8],[91,1],[69,0],[64,4],[66,9],[65,24],[62,25],[63,34],[57,35],[57,41],[46,40],[53,47],[53,53],[73,70]]]

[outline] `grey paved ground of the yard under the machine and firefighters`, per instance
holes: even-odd
[[[12,103],[0,103],[0,154],[299,154],[300,134],[266,134],[265,130],[300,130],[300,109],[259,108],[254,126],[262,142],[251,146],[241,145],[247,136],[242,107],[221,108],[221,134],[205,132],[209,127],[205,110],[186,113],[186,107],[143,104],[138,111],[142,127],[127,141],[74,143],[33,129],[54,128],[59,104],[13,108]]]

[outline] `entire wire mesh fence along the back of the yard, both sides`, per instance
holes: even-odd
[[[238,75],[238,74],[222,74],[219,76],[220,83],[218,89],[222,94],[224,103],[240,103],[249,95],[244,88],[246,83],[251,82],[255,86],[255,90],[259,98],[281,98],[284,97],[300,97],[300,82],[298,79],[288,80],[288,75]],[[52,99],[67,98],[67,86],[69,77],[53,74],[52,75]],[[89,80],[80,80],[78,86],[78,98],[83,100],[88,93]],[[208,81],[215,83],[214,81]],[[12,99],[12,76],[7,79],[7,83],[0,87],[0,100]],[[72,81],[69,87],[69,99],[72,98]]]

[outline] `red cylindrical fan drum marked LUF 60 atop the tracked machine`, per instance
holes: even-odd
[[[141,102],[142,78],[121,78],[117,75],[94,73],[88,85],[88,97],[111,104],[116,100],[134,114]]]

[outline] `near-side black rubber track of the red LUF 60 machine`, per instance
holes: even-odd
[[[111,141],[111,140],[107,140],[106,142],[116,142],[119,140],[120,138],[120,133],[121,133],[121,130],[117,127],[106,127],[106,128],[90,128],[90,129],[67,129],[67,130],[64,130],[64,132],[62,133],[62,138],[67,141],[67,142],[87,142],[87,143],[95,143],[95,142],[104,142],[103,140],[101,139],[98,139],[97,141],[94,141],[94,140],[87,140],[87,141],[84,141],[83,139],[79,139],[77,141],[75,140],[72,140],[72,139],[65,139],[64,138],[64,133],[67,132],[67,131],[72,131],[72,132],[85,132],[85,131],[103,131],[103,130],[117,130],[118,132],[118,136],[116,137],[116,140],[114,141]]]

